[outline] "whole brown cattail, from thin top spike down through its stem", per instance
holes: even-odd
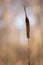
[[[24,11],[25,11],[25,22],[26,22],[26,33],[27,33],[27,38],[28,38],[28,43],[29,43],[29,37],[30,37],[30,25],[29,25],[29,19],[27,17],[27,14],[26,14],[26,10],[25,10],[25,6],[24,6]],[[28,55],[28,65],[30,65],[30,48],[28,48],[28,52],[29,52],[29,55]]]

